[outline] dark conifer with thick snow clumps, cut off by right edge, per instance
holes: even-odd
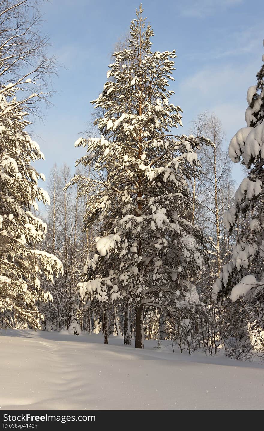
[[[251,329],[264,329],[264,64],[257,74],[257,85],[248,89],[247,102],[247,127],[231,139],[229,156],[248,169],[248,176],[239,185],[235,202],[224,216],[229,234],[239,217],[244,218],[244,223],[233,247],[233,260],[223,265],[214,285],[215,297],[225,293],[230,294],[233,302],[240,301],[244,332],[248,322],[253,325]]]

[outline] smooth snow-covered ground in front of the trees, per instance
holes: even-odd
[[[0,408],[263,409],[264,365],[123,346],[101,335],[0,331]]]

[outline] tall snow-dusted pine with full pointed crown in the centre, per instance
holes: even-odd
[[[104,90],[92,101],[104,112],[95,121],[102,137],[75,143],[88,147],[77,164],[94,163],[97,175],[72,180],[79,183],[79,194],[88,196],[85,228],[96,221],[100,229],[80,294],[135,306],[138,348],[144,306],[173,313],[198,300],[190,281],[201,269],[205,245],[189,222],[186,180],[193,166],[199,167],[196,150],[211,142],[174,134],[182,125],[182,110],[169,102],[176,54],[151,52],[153,30],[142,12],[140,6],[130,25],[129,48],[113,54]]]

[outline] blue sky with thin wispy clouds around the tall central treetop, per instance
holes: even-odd
[[[129,30],[139,3],[106,0],[50,0],[42,8],[43,30],[60,68],[53,86],[53,106],[35,135],[45,161],[37,168],[46,177],[56,162],[74,172],[84,149],[74,142],[91,120],[90,100],[101,93],[114,44]],[[215,111],[226,131],[226,147],[245,126],[246,92],[255,85],[264,53],[263,0],[145,0],[144,15],[154,30],[153,50],[176,49],[172,102],[183,109],[186,133],[199,112]],[[239,165],[233,176],[242,179]]]

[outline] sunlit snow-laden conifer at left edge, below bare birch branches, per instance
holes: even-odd
[[[44,239],[47,225],[31,208],[37,201],[49,203],[31,165],[44,159],[38,144],[25,131],[27,114],[16,103],[16,89],[3,87],[0,94],[0,319],[1,325],[28,324],[38,328],[38,301],[52,300],[41,288],[41,278],[53,283],[63,271],[56,256],[35,250]]]

